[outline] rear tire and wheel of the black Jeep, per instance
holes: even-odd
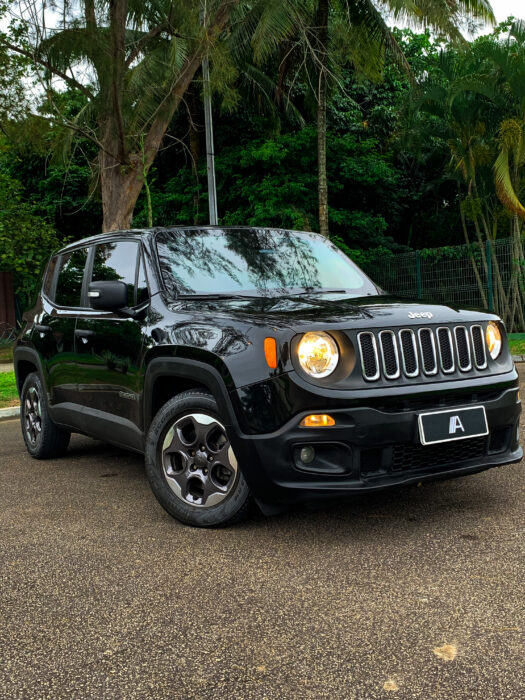
[[[22,386],[20,424],[31,457],[51,459],[65,454],[71,433],[51,420],[44,385],[36,372],[29,374]]]

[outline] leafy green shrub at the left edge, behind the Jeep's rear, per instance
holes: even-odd
[[[50,252],[60,244],[53,229],[22,196],[20,183],[0,172],[0,269],[15,273],[24,305],[40,283]]]

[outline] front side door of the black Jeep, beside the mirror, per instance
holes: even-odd
[[[128,306],[145,311],[149,305],[148,286],[141,245],[136,240],[119,240],[97,245],[90,252],[89,282],[121,280],[128,286]],[[86,297],[87,304],[89,300]],[[121,434],[142,428],[143,330],[147,313],[140,320],[118,313],[83,309],[78,315],[76,377],[85,413],[93,421],[90,432],[101,434],[115,425]],[[109,435],[102,437],[110,438]],[[122,442],[122,439],[115,438]]]

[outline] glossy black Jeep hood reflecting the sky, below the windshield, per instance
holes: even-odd
[[[170,304],[173,311],[229,318],[251,325],[311,329],[421,326],[436,323],[482,321],[494,314],[476,309],[393,296],[350,297],[343,294],[254,297],[253,299],[185,299]]]

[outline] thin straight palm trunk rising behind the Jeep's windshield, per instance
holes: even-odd
[[[326,176],[326,60],[328,48],[328,11],[330,0],[319,0],[317,5],[317,60],[319,82],[317,95],[317,167],[319,196],[319,233],[329,236],[328,179]]]

